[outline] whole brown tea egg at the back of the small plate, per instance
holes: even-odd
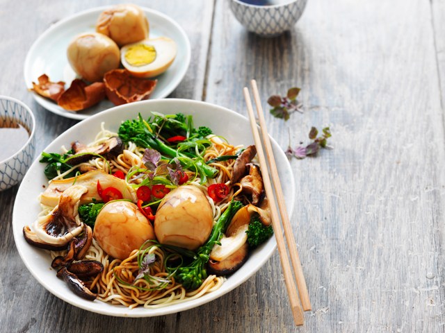
[[[96,32],[124,46],[148,38],[149,26],[143,10],[127,3],[102,12],[96,22]]]

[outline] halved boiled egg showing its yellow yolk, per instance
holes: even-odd
[[[132,76],[152,78],[172,65],[176,53],[175,42],[159,37],[125,45],[120,50],[120,60]]]

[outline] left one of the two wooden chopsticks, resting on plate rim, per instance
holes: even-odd
[[[280,253],[281,265],[283,267],[284,281],[286,282],[287,293],[289,294],[289,301],[291,302],[293,321],[295,322],[295,325],[300,326],[305,323],[305,317],[303,316],[303,313],[301,311],[300,300],[298,300],[296,285],[293,282],[291,264],[289,264],[289,258],[287,257],[286,253],[286,244],[284,244],[280,218],[278,217],[277,206],[275,205],[272,185],[270,185],[266,159],[264,158],[264,151],[263,147],[261,146],[261,139],[259,137],[257,123],[255,122],[252,101],[250,100],[248,88],[244,87],[243,92],[245,97],[245,104],[248,107],[250,126],[252,127],[255,145],[257,146],[259,168],[261,169],[261,173],[263,175],[264,189],[266,190],[266,196],[269,198],[270,215],[272,216],[273,230],[275,231],[275,238],[277,239],[278,244],[278,252]]]

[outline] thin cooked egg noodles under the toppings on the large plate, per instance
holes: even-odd
[[[88,146],[97,146],[113,136],[118,136],[118,133],[106,130],[104,128],[104,123],[102,123],[101,131],[95,137],[95,141],[88,144]],[[201,156],[203,162],[224,155],[236,155],[236,153],[243,148],[242,145],[233,146],[227,142],[223,142],[223,140],[219,138],[220,137],[216,135],[212,135],[209,136],[208,139],[205,139],[205,143],[210,144],[207,148],[202,145],[202,143],[195,145],[196,153]],[[64,146],[62,149],[65,152],[68,151]],[[120,170],[125,174],[127,186],[136,189],[139,186],[149,184],[143,177],[138,177],[140,173],[146,171],[146,167],[142,162],[144,152],[145,148],[137,146],[133,142],[129,142],[124,146],[124,151],[116,157],[108,159],[104,159],[102,156],[93,157],[88,162],[73,166],[72,170],[81,165],[93,167],[107,173],[115,173]],[[241,184],[230,183],[235,160],[209,163],[209,166],[218,169],[219,172],[215,178],[207,178],[205,173],[200,174],[197,172],[198,166],[195,160],[188,157],[177,158],[184,164],[183,170],[189,179],[187,184],[195,185],[202,189],[203,193],[209,200],[213,212],[213,225],[215,225],[221,214],[227,209],[232,198],[240,198],[241,196]],[[195,171],[190,168],[193,168]],[[66,176],[69,172],[70,171],[60,173],[57,179],[63,178],[63,176]],[[202,179],[202,177],[204,177],[204,179]],[[161,178],[155,178],[152,180],[152,184],[170,184],[168,180],[165,181],[165,178],[162,180]],[[203,182],[202,180],[205,181]],[[224,183],[227,185],[227,187],[229,187],[229,194],[223,200],[214,202],[208,194],[207,187],[217,183]],[[248,200],[248,198],[244,198],[244,200]],[[144,207],[148,205],[156,205],[160,202],[161,200],[156,200],[152,203],[148,203]],[[40,214],[49,214],[53,208],[54,207],[42,205],[42,212]],[[84,259],[97,260],[104,265],[104,271],[99,273],[95,278],[90,279],[90,282],[92,283],[91,289],[93,291],[97,290],[97,300],[110,302],[115,305],[124,305],[131,309],[140,305],[145,308],[159,308],[200,298],[206,293],[216,291],[225,282],[225,277],[209,275],[198,289],[186,290],[181,284],[178,284],[175,281],[174,273],[177,268],[168,267],[167,265],[169,259],[179,256],[175,253],[167,255],[164,248],[164,246],[155,244],[145,249],[141,248],[139,250],[133,250],[127,259],[120,260],[109,257],[93,238],[92,245],[88,249]],[[58,255],[65,255],[66,250],[47,252],[50,252],[51,257],[54,259],[54,257]],[[156,256],[154,266],[149,268],[149,275],[145,275],[144,278],[138,279],[135,283],[135,278],[139,273],[140,260],[150,253],[153,253]],[[169,282],[165,282],[165,280],[168,280]]]

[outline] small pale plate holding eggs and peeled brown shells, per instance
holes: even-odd
[[[70,87],[76,74],[68,64],[66,51],[71,38],[79,33],[95,31],[95,24],[100,13],[109,8],[99,7],[79,12],[60,20],[47,29],[34,42],[26,55],[24,76],[27,88],[32,88],[32,82],[38,83],[38,77],[47,74],[51,82],[65,81],[65,89]],[[188,37],[181,26],[167,15],[157,10],[141,8],[147,15],[149,23],[149,38],[168,37],[177,44],[177,56],[172,65],[163,74],[157,76],[158,83],[150,99],[167,97],[181,82],[186,74],[191,60],[191,46]],[[154,78],[153,78],[154,79]],[[93,114],[113,108],[115,105],[103,99],[96,105],[79,112],[67,111],[51,99],[46,99],[31,92],[37,103],[43,108],[72,119],[86,119]]]

